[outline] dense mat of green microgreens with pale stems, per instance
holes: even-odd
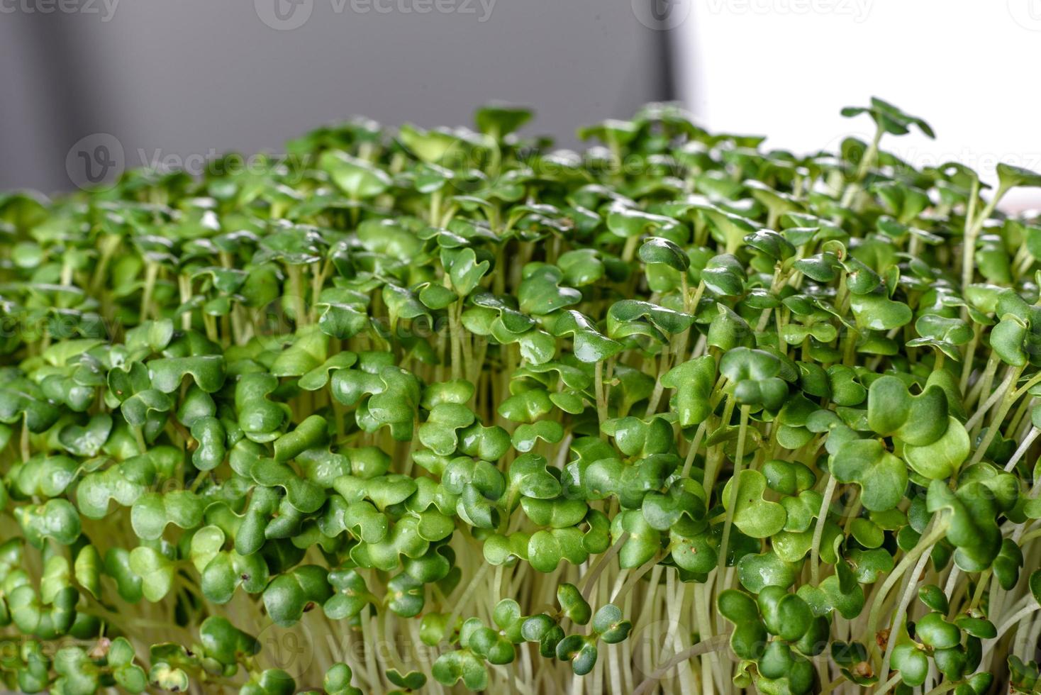
[[[843,113],[0,197],[2,687],[1041,692],[1041,176]]]

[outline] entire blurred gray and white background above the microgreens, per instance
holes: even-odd
[[[992,176],[1041,170],[1038,65],[1041,0],[0,0],[0,188],[198,173],[354,114],[468,125],[489,100],[564,147],[676,99],[811,152],[869,138],[839,109],[872,95],[937,131],[889,149]]]

